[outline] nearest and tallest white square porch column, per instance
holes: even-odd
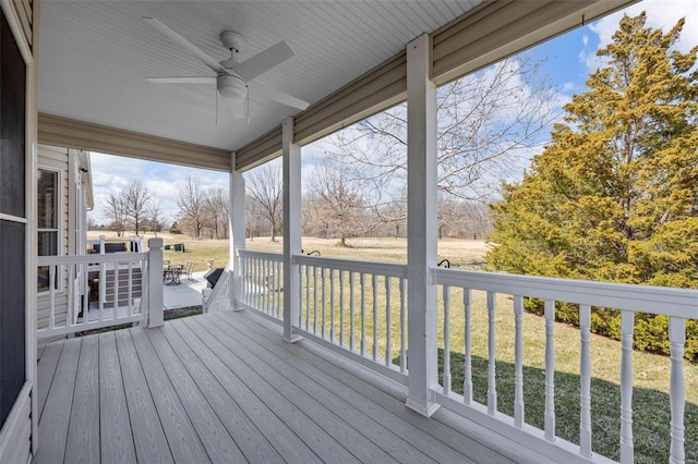
[[[431,40],[407,46],[407,308],[409,395],[407,406],[429,417],[438,404],[430,390],[436,369],[436,86],[429,80]]]

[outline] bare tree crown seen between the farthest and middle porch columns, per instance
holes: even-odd
[[[245,172],[248,193],[257,203],[257,211],[270,224],[272,242],[281,222],[284,184],[281,167],[266,163]]]

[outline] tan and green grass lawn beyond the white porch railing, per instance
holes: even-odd
[[[91,233],[96,234],[99,233]],[[173,264],[193,260],[196,270],[206,269],[206,260],[214,259],[215,266],[222,267],[228,261],[227,241],[198,241],[185,235],[159,234],[166,244],[183,243],[186,252],[165,252],[165,259]],[[305,253],[318,251],[323,257],[338,257],[374,261],[407,261],[407,246],[402,239],[357,239],[350,247],[340,247],[336,240],[304,237]],[[268,237],[246,241],[248,249],[277,252],[282,243],[270,242]],[[483,262],[486,245],[480,241],[446,240],[438,244],[440,259],[447,258],[452,267],[477,269]],[[384,297],[382,282],[378,290]],[[393,302],[397,302],[397,285],[393,286]],[[371,302],[371,291],[366,301]],[[441,300],[441,296],[440,296]],[[464,366],[464,312],[455,302],[461,301],[457,291],[452,293],[452,376],[453,390],[462,392]],[[372,353],[372,309],[366,313],[366,345]],[[354,313],[354,331],[360,330],[359,315]],[[385,326],[384,312],[378,317],[378,327]],[[329,316],[327,315],[327,319]],[[443,306],[438,307],[440,347],[443,349]],[[472,305],[472,366],[473,393],[476,401],[484,403],[488,390],[488,312],[485,296],[473,293]],[[335,330],[338,330],[338,308],[335,307]],[[390,346],[393,356],[399,353],[399,314],[392,313],[393,334]],[[311,322],[312,323],[312,322]],[[321,326],[323,321],[320,321]],[[329,323],[328,320],[326,323]],[[514,402],[514,312],[508,295],[497,295],[496,310],[496,368],[498,410],[513,415]],[[349,317],[345,315],[345,330],[348,332]],[[384,328],[382,327],[384,332]],[[378,331],[378,334],[381,330]],[[378,335],[380,337],[380,335]],[[358,340],[358,338],[357,338]],[[378,343],[378,353],[385,352],[386,341]],[[543,427],[544,411],[544,356],[545,323],[542,317],[524,316],[524,369],[526,422]],[[579,437],[579,330],[563,323],[555,325],[555,414],[557,435],[578,442]],[[440,353],[443,353],[440,351]],[[593,451],[617,460],[619,441],[619,366],[621,344],[617,341],[592,334],[592,422]],[[441,361],[440,361],[441,363]],[[634,365],[634,434],[636,462],[666,462],[670,444],[670,359],[665,356],[635,352]],[[698,462],[698,363],[686,362],[686,461]]]

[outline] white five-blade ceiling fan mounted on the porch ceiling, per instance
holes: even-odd
[[[243,119],[248,115],[245,101],[248,101],[250,94],[300,110],[308,108],[309,103],[306,101],[254,81],[261,74],[293,56],[293,50],[285,41],[280,41],[249,60],[238,63],[236,53],[239,53],[244,47],[244,38],[232,30],[224,30],[220,33],[220,41],[230,52],[230,58],[218,62],[160,21],[145,16],[143,20],[184,50],[198,58],[216,73],[215,76],[146,77],[147,81],[156,84],[216,84],[218,95],[230,101],[233,119]]]

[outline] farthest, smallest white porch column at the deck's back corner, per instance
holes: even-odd
[[[236,170],[236,154],[230,156],[230,188],[228,190],[230,198],[230,213],[228,215],[228,231],[230,237],[228,243],[230,246],[228,262],[230,264],[230,307],[234,310],[242,309],[238,302],[240,301],[240,291],[242,289],[242,274],[240,261],[236,249],[244,249],[244,237],[246,228],[245,211],[245,187],[242,172]]]

